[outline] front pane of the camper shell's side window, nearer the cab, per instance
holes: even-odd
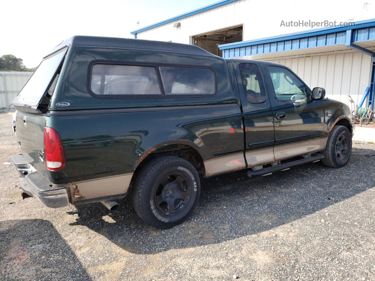
[[[211,69],[160,66],[166,95],[209,95],[215,93]]]

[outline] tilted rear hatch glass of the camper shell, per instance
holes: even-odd
[[[43,59],[12,103],[37,106],[60,66],[67,49],[64,48]]]

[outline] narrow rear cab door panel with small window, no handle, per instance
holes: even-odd
[[[244,117],[248,167],[273,162],[273,114],[259,64],[247,60],[232,62]]]

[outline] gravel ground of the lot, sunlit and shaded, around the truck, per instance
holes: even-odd
[[[168,230],[129,199],[51,209],[22,200],[0,115],[0,280],[375,280],[375,145],[347,166],[307,164],[266,177],[202,180],[200,202]]]

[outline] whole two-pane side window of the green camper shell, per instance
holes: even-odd
[[[202,97],[216,94],[215,73],[208,67],[140,65],[96,61],[88,88],[97,98]]]

